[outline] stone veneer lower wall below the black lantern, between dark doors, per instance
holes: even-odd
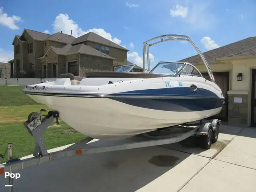
[[[234,103],[234,97],[242,97],[242,103]],[[228,124],[247,126],[248,122],[248,95],[228,95]]]

